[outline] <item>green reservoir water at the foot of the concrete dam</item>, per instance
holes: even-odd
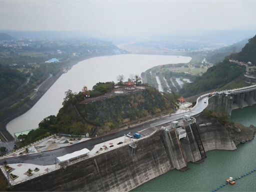
[[[231,120],[245,126],[256,125],[256,105],[233,110]],[[229,176],[240,176],[256,168],[256,138],[239,144],[234,151],[213,150],[206,155],[201,164],[188,163],[188,170],[171,170],[133,191],[212,191]],[[256,171],[217,191],[256,191]]]

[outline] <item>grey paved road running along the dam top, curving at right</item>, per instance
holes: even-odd
[[[204,100],[206,100],[206,103],[204,103]],[[159,122],[159,121],[167,120],[167,119],[171,119],[171,120],[179,119],[179,118],[182,118],[183,115],[185,115],[185,114],[188,114],[190,116],[196,115],[196,114],[200,113],[207,106],[207,104],[208,104],[208,96],[204,95],[204,96],[197,98],[197,102],[196,102],[195,106],[192,108],[192,110],[190,110],[188,112],[183,112],[183,113],[174,114],[174,115],[167,116],[167,117],[162,117],[160,119],[146,122],[141,125],[129,128],[128,130],[121,130],[119,132],[105,135],[103,137],[92,138],[92,139],[89,139],[89,140],[86,140],[86,141],[83,141],[83,142],[80,142],[80,143],[77,143],[77,144],[74,144],[71,146],[66,146],[66,147],[55,149],[52,151],[45,151],[45,152],[40,152],[40,153],[15,156],[15,157],[11,157],[11,158],[6,158],[5,160],[7,161],[7,163],[23,162],[23,163],[32,163],[32,164],[38,164],[38,165],[54,164],[57,156],[62,156],[64,154],[67,154],[67,153],[70,153],[70,152],[73,152],[76,150],[80,150],[82,148],[88,148],[89,150],[91,150],[95,144],[101,143],[101,142],[103,142],[103,140],[107,141],[107,140],[110,140],[110,139],[113,139],[116,137],[123,136],[124,133],[127,133],[127,132],[134,133],[139,130],[149,128],[151,123],[155,123],[155,122]],[[103,138],[103,140],[102,140],[102,138]],[[4,161],[4,159],[1,159],[0,164],[2,164],[3,161]]]

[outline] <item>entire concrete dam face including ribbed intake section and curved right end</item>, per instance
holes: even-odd
[[[206,150],[235,149],[227,132],[219,134],[217,126],[199,127],[192,123],[171,128],[165,124],[150,129],[152,134],[133,145],[123,145],[60,167],[12,185],[9,190],[129,191],[172,169],[186,169],[189,161],[201,162]]]

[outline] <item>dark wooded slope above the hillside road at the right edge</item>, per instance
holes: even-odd
[[[256,64],[256,35],[249,39],[248,43],[239,53],[233,54],[231,57],[240,61],[250,61],[252,64]]]

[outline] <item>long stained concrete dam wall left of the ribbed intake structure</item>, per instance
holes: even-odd
[[[13,185],[13,191],[128,191],[171,169],[163,131],[66,168]],[[43,183],[43,184],[42,184]]]

